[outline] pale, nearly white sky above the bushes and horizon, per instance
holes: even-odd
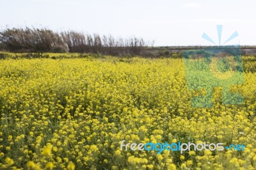
[[[154,45],[212,45],[216,25],[223,25],[223,42],[256,45],[256,1],[167,0],[0,0],[0,27],[35,26],[54,30],[154,40]]]

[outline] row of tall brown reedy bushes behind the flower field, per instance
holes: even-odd
[[[0,31],[0,49],[10,52],[79,52],[112,56],[142,55],[148,42],[142,38],[114,38],[77,31],[13,27]]]

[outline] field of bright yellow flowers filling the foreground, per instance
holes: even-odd
[[[256,59],[243,104],[191,107],[183,59],[0,60],[0,169],[256,169]],[[244,144],[245,151],[132,151],[126,143]]]

